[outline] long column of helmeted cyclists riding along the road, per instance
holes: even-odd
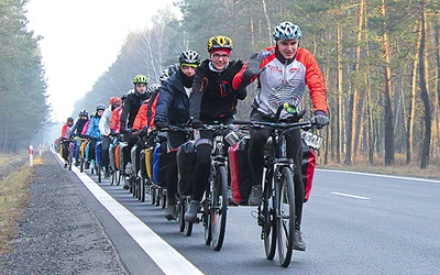
[[[81,139],[90,141],[87,163],[94,165],[95,143],[101,142],[100,165],[105,174],[112,173],[109,165],[109,147],[112,136],[127,142],[124,158],[127,167],[133,165],[130,151],[144,136],[153,132],[165,132],[167,142],[165,218],[177,218],[176,195],[178,194],[177,151],[188,141],[195,140],[196,162],[193,173],[190,206],[185,221],[196,222],[200,211],[204,193],[210,176],[212,131],[207,128],[218,123],[231,124],[237,113],[238,100],[248,96],[246,87],[257,81],[252,103],[250,121],[275,121],[275,114],[284,106],[280,118],[301,109],[301,98],[306,86],[309,88],[315,116],[312,124],[322,128],[328,124],[328,106],[322,73],[314,55],[299,47],[301,31],[292,22],[283,22],[274,28],[274,46],[253,54],[246,63],[231,58],[233,42],[231,37],[216,35],[208,40],[209,57],[200,61],[199,53],[187,50],[179,56],[178,64],[162,72],[160,84],[150,84],[144,75],[133,78],[133,90],[123,97],[110,98],[110,106],[99,105],[88,117],[86,110],[78,113],[78,120],[69,118],[63,127],[63,139],[74,140],[75,165],[79,165],[78,147]],[[188,138],[185,131],[168,131],[172,127],[187,127],[195,130]],[[271,135],[268,128],[250,130],[249,162],[252,175],[252,190],[248,199],[250,206],[262,204],[262,180],[264,167],[264,146]],[[295,233],[293,249],[305,251],[300,223],[305,187],[301,177],[301,135],[299,129],[289,130],[287,156],[293,160],[295,188]],[[65,166],[68,165],[68,158]],[[86,167],[87,168],[87,167]],[[125,189],[129,184],[124,183]]]

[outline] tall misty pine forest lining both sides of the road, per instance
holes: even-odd
[[[122,96],[132,88],[136,74],[156,82],[160,73],[185,50],[207,58],[206,43],[217,34],[232,37],[232,59],[245,62],[253,52],[273,45],[271,34],[276,24],[292,21],[301,29],[300,46],[315,54],[326,79],[330,125],[319,132],[324,138],[318,152],[321,163],[417,163],[422,169],[440,164],[439,0],[179,0],[174,4],[179,16],[164,8],[151,28],[128,34],[117,61],[75,103],[74,114],[80,109],[94,110],[100,102],[107,105],[111,96]],[[4,21],[8,8],[3,9],[0,6]],[[30,66],[23,66],[20,58],[34,57],[26,61],[34,65],[35,72],[26,73],[34,78],[34,86],[26,82],[25,92],[29,98],[32,89],[32,95],[43,100],[20,102],[40,107],[32,109],[37,114],[29,114],[34,131],[46,123],[48,111],[37,37],[25,31],[23,18],[15,20],[21,24],[0,30],[0,92],[9,95],[8,102],[0,102],[0,145],[11,142],[11,131],[16,131],[11,129],[14,116],[4,117],[3,112],[10,114],[14,109],[8,108],[16,106],[22,98],[18,95],[24,92],[16,90],[22,87],[16,85],[22,80],[18,76]],[[15,37],[16,30],[23,32],[20,37]],[[20,45],[32,55],[13,56],[16,43],[3,40],[11,34],[25,40]],[[239,106],[240,119],[249,117],[253,95],[250,86],[246,100]],[[304,108],[312,110],[309,98]]]

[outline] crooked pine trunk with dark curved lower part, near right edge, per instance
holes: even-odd
[[[425,13],[425,0],[420,0],[420,25],[421,25],[421,37],[419,48],[419,75],[420,75],[420,97],[425,107],[425,133],[424,144],[421,148],[420,168],[425,169],[429,165],[429,148],[431,144],[431,107],[429,103],[429,95],[427,87],[428,79],[428,61],[425,56],[426,47],[426,13]]]

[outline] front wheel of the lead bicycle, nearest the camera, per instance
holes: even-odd
[[[283,167],[277,176],[276,195],[276,232],[278,257],[282,266],[290,264],[295,230],[295,191],[294,179],[289,167]]]

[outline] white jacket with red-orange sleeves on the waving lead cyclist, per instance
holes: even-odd
[[[263,59],[260,67],[265,69],[258,77],[258,86],[252,107],[264,116],[274,116],[279,105],[288,102],[299,110],[300,101],[306,88],[315,111],[328,112],[326,100],[326,86],[321,69],[315,56],[307,50],[299,47],[293,61],[283,63],[276,58],[276,46],[267,47],[260,53]],[[235,75],[233,88],[239,89],[255,80],[243,79],[248,64]]]

